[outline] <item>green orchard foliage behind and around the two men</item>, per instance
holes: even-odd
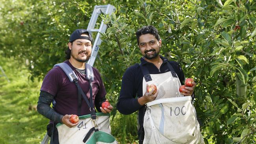
[[[163,41],[161,55],[178,61],[185,76],[194,78],[198,84],[194,105],[205,142],[255,143],[254,0],[1,0],[1,65],[13,81],[16,79],[11,73],[24,70],[27,74],[23,75],[32,80],[23,79],[29,83],[24,87],[33,83],[38,90],[23,89],[17,94],[17,98],[23,98],[22,94],[28,93],[24,105],[36,104],[40,81],[54,64],[65,60],[70,33],[86,28],[93,7],[105,4],[112,4],[116,11],[110,16],[101,15],[108,30],[102,33],[94,66],[102,74],[107,97],[114,106],[122,74],[128,66],[139,63],[141,57],[135,31],[144,25],[154,25]],[[15,63],[11,65],[15,69],[8,66],[9,61]],[[2,81],[5,80],[1,77],[0,96],[6,100],[14,91],[11,87],[18,85]],[[6,85],[10,91],[5,90]],[[4,115],[11,113],[6,111]],[[47,124],[43,116],[37,113],[31,116]],[[126,116],[112,112],[112,134],[119,142],[136,142],[136,125],[136,113]],[[45,133],[42,126],[38,131]],[[39,142],[43,134],[37,136],[35,141],[26,142]],[[4,142],[8,140],[10,136]]]

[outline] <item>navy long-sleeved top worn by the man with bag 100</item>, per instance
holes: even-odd
[[[180,79],[180,83],[184,85],[184,73],[182,68],[177,62],[168,61],[167,58],[160,56],[163,60],[160,69],[158,69],[154,64],[145,61],[144,57],[141,58],[141,65],[145,65],[148,68],[150,74],[161,74],[170,71],[167,63],[173,66],[174,72]],[[145,114],[145,106],[140,105],[137,98],[143,96],[142,92],[143,85],[143,73],[139,64],[135,64],[127,68],[126,72],[122,77],[122,86],[120,91],[120,96],[117,102],[117,109],[122,114],[132,114],[139,110],[139,124],[140,128],[138,131],[139,143],[143,142],[144,139],[144,129],[143,129],[143,117]]]

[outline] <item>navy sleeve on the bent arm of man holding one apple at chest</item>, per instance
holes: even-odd
[[[139,110],[142,105],[139,104],[136,97],[134,70],[130,67],[122,77],[122,86],[120,96],[117,102],[117,110],[122,114],[132,114]]]

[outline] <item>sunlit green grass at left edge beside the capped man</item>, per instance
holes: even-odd
[[[35,109],[41,83],[30,81],[24,65],[13,58],[1,58],[0,66],[10,80],[8,83],[5,77],[0,77],[0,142],[39,144],[48,124]]]

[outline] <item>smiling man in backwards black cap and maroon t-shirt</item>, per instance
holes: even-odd
[[[83,92],[90,98],[89,80],[85,75],[85,62],[91,57],[92,51],[92,37],[91,34],[84,29],[77,29],[71,35],[66,50],[67,63],[70,68],[78,76],[78,83]],[[96,109],[102,113],[110,113],[113,107],[110,105],[108,108],[102,109],[100,107],[102,102],[106,100],[106,90],[103,85],[100,73],[93,67],[94,81],[92,81],[93,100]],[[50,104],[56,102],[53,108]],[[78,89],[76,85],[69,81],[65,72],[56,66],[52,68],[45,76],[39,100],[37,102],[37,111],[50,119],[47,126],[47,133],[53,137],[50,141],[51,144],[58,144],[58,130],[55,127],[57,123],[65,124],[68,127],[76,126],[69,121],[71,114],[78,116],[90,114],[89,107],[85,100],[82,99],[81,114],[78,114]]]

